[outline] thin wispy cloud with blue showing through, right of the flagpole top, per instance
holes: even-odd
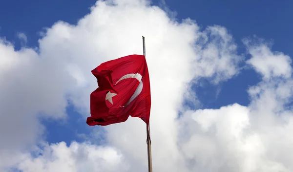
[[[214,83],[230,79],[237,74],[237,65],[242,57],[237,55],[236,44],[227,29],[218,25],[209,26],[198,40],[196,49],[195,76],[213,77]]]

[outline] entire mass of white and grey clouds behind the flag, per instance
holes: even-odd
[[[39,40],[39,54],[0,42],[0,170],[146,171],[146,126],[137,118],[105,127],[108,147],[62,142],[37,149],[42,154],[28,153],[42,142],[39,117],[70,117],[66,98],[84,114],[86,125],[89,94],[97,87],[90,70],[107,60],[142,54],[142,35],[152,91],[154,171],[293,170],[293,123],[286,106],[293,90],[289,57],[263,44],[248,45],[248,63],[264,76],[249,89],[251,105],[188,110],[178,120],[183,100],[196,102],[190,98],[194,93],[186,92],[189,83],[201,77],[226,81],[239,72],[242,57],[224,27],[201,30],[190,19],[176,22],[145,0],[98,1],[77,25],[59,21],[48,28]],[[288,80],[270,80],[280,76]]]

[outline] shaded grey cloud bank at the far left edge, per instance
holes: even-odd
[[[0,150],[23,148],[42,133],[39,113],[64,117],[70,80],[32,49],[15,51],[1,41],[0,54]]]

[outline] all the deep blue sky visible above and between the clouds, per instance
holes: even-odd
[[[17,34],[24,33],[27,37],[25,47],[38,47],[40,32],[51,27],[57,21],[76,24],[90,12],[90,7],[96,0],[2,0],[0,1],[0,37],[14,44],[15,49],[21,48]],[[153,5],[162,7],[162,1],[152,1]],[[163,3],[164,4],[164,3]],[[176,20],[190,18],[204,30],[210,25],[221,25],[227,28],[237,44],[237,53],[251,58],[246,46],[242,43],[245,38],[264,39],[271,42],[272,51],[280,51],[293,57],[293,1],[276,0],[165,0],[166,7],[177,13]],[[95,64],[99,65],[99,64]],[[240,66],[244,66],[241,63]],[[91,68],[88,68],[90,72]],[[261,81],[261,75],[252,68],[242,68],[241,72],[230,78],[212,84],[209,78],[200,79],[191,88],[195,91],[200,105],[198,108],[221,108],[234,103],[249,106],[249,86]],[[94,81],[93,81],[94,82]],[[32,83],[36,84],[36,83]],[[88,95],[89,96],[89,95]],[[46,141],[51,143],[72,141],[82,143],[84,135],[90,137],[92,128],[86,125],[84,117],[73,105],[66,108],[70,117],[65,121],[42,118],[45,126]],[[101,127],[97,129],[103,130]],[[83,136],[81,136],[83,135]]]

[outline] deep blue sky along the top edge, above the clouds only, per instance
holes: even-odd
[[[24,32],[28,45],[37,45],[38,32],[62,20],[72,24],[89,13],[95,0],[1,1],[1,36],[17,43],[15,34]],[[159,5],[160,1],[152,1]],[[196,20],[206,27],[219,24],[227,27],[241,46],[241,39],[257,35],[274,42],[273,49],[292,54],[293,14],[291,1],[278,3],[274,0],[165,0],[170,10],[177,12],[178,21]],[[18,4],[18,5],[16,5]],[[8,17],[9,16],[9,17]],[[248,27],[249,25],[249,27]]]

